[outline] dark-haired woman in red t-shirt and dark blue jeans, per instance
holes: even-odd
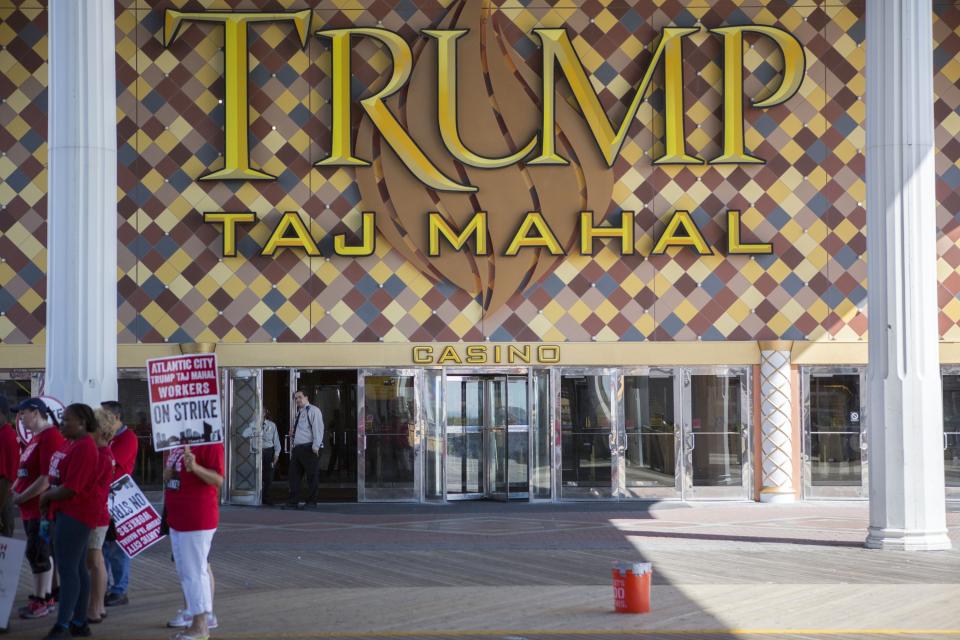
[[[50,459],[50,488],[40,496],[40,510],[50,510],[55,519],[53,553],[60,575],[57,622],[44,640],[66,640],[90,635],[87,607],[90,575],[86,551],[90,531],[97,526],[103,508],[98,500],[97,445],[90,435],[97,430],[93,409],[71,404],[63,412],[60,431],[66,444]]]

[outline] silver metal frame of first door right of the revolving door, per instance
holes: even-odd
[[[618,414],[619,401],[617,392],[620,390],[619,379],[622,369],[620,367],[553,367],[551,384],[553,386],[553,433],[554,433],[554,467],[553,467],[553,495],[555,500],[564,502],[582,502],[582,501],[605,501],[615,502],[619,500],[618,489],[620,486],[619,473],[619,429]],[[610,445],[610,495],[609,496],[564,496],[563,495],[563,411],[561,409],[562,393],[561,379],[564,376],[607,376],[609,387],[607,392],[610,397],[610,434],[608,442]]]

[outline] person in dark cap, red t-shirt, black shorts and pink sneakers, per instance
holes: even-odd
[[[50,458],[64,443],[53,412],[40,398],[24,400],[13,408],[23,426],[33,434],[20,454],[17,481],[13,485],[13,503],[20,507],[23,529],[27,534],[27,561],[33,572],[33,595],[21,618],[42,618],[56,609],[53,587],[53,564],[50,561],[50,540],[40,535],[40,494],[50,486],[47,471]]]

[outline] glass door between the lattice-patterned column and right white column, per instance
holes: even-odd
[[[804,497],[867,497],[864,383],[858,367],[803,370]]]

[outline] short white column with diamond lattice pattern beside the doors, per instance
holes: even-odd
[[[760,502],[793,502],[793,385],[790,343],[760,343]]]

